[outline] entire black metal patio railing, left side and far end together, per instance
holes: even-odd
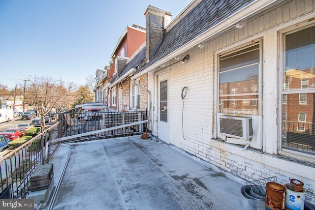
[[[146,129],[147,111],[74,112],[58,114],[58,122],[0,158],[0,198],[26,198],[32,172],[49,163],[63,142],[141,134]],[[102,130],[99,131],[98,130]]]

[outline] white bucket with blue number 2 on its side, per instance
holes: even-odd
[[[284,184],[285,186],[285,207],[290,210],[304,210],[305,191],[295,192],[290,190],[290,184]]]

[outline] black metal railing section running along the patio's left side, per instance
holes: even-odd
[[[57,122],[20,147],[6,151],[0,158],[0,198],[24,199],[30,189],[30,177],[34,169],[49,163],[60,142]],[[4,196],[4,197],[3,197]]]

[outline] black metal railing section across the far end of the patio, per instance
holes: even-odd
[[[112,138],[127,135],[137,135],[144,132],[147,123],[141,123],[147,120],[147,111],[130,112],[109,112],[108,110],[86,111],[69,110],[59,113],[59,130],[61,137],[73,136],[76,139],[96,139]],[[139,122],[138,124],[128,125]],[[123,126],[126,125],[126,126]],[[117,127],[117,128],[116,128]],[[93,131],[104,130],[104,132],[95,133]],[[87,133],[82,137],[77,134]],[[93,133],[93,134],[89,134]]]

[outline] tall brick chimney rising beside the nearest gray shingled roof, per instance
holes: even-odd
[[[146,60],[158,44],[158,40],[163,35],[164,28],[171,22],[171,13],[149,5],[146,16]]]

